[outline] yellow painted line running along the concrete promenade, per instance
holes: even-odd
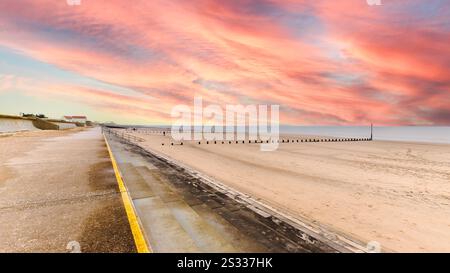
[[[132,204],[130,195],[128,194],[127,188],[123,183],[122,176],[120,175],[119,168],[117,167],[116,160],[114,155],[109,147],[108,141],[106,140],[106,136],[103,135],[106,143],[106,147],[108,148],[108,153],[111,158],[111,162],[113,165],[114,173],[116,174],[117,183],[119,184],[120,194],[122,195],[122,201],[125,206],[125,211],[127,213],[128,222],[130,223],[131,232],[133,233],[134,243],[136,244],[136,249],[138,253],[150,253],[151,248],[147,245],[147,241],[145,240],[144,233],[141,230],[141,226],[139,225],[139,220],[136,216],[136,212],[134,211],[134,206]]]

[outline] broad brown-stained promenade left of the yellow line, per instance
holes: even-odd
[[[3,137],[0,152],[0,252],[136,251],[100,128]]]

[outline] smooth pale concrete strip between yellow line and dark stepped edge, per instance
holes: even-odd
[[[267,252],[200,200],[188,196],[148,158],[109,138],[153,252]]]

